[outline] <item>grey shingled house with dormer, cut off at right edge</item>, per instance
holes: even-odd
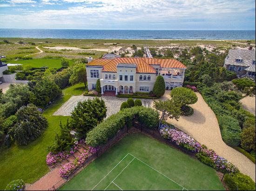
[[[254,50],[229,50],[225,58],[224,67],[235,71],[238,77],[251,77],[255,79],[255,51]]]

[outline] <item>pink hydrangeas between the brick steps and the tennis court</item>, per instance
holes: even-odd
[[[80,156],[74,159],[74,161],[61,166],[60,175],[62,178],[68,178],[78,167],[80,167],[86,159],[88,159],[89,152],[84,151]]]

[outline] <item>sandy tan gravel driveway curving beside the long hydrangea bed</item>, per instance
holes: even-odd
[[[166,91],[162,99],[169,99],[169,93],[170,91]],[[191,135],[201,144],[215,150],[217,154],[236,165],[240,172],[249,175],[255,181],[255,164],[223,142],[216,115],[203,100],[201,94],[196,92],[196,95],[198,101],[191,105],[194,109],[192,116],[181,116],[179,121],[175,119],[167,121]]]

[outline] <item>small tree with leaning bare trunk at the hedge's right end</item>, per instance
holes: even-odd
[[[162,121],[167,120],[167,118],[175,119],[178,121],[182,113],[181,103],[175,102],[173,99],[167,101],[154,101],[154,108],[162,113],[158,127],[160,127]]]

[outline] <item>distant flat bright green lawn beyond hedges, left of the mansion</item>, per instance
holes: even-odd
[[[24,66],[32,67],[43,67],[48,66],[49,68],[61,68],[61,59],[30,59],[30,60],[13,60],[7,62],[8,64],[23,64]],[[73,65],[74,61],[69,60],[69,65]]]

